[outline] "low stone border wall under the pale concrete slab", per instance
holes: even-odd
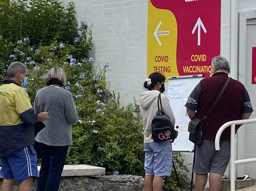
[[[0,188],[3,179],[0,178]],[[103,176],[64,176],[59,191],[143,191],[144,178],[134,175]],[[14,191],[17,191],[17,183]],[[36,191],[37,178],[32,183],[32,191]]]

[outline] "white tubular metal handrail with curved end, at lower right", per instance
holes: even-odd
[[[256,158],[247,158],[247,159],[241,159],[241,160],[235,159],[236,125],[249,124],[249,123],[256,123],[256,118],[226,122],[221,126],[221,128],[219,128],[219,131],[217,132],[215,137],[215,150],[219,151],[220,149],[219,142],[220,142],[221,134],[227,127],[231,126],[231,129],[230,129],[230,191],[235,191],[235,166],[237,164],[256,162]]]

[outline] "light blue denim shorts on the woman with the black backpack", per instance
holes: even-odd
[[[170,141],[144,143],[145,175],[170,176],[173,151]]]

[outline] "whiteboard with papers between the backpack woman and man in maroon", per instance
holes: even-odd
[[[187,126],[190,121],[187,116],[187,98],[195,86],[204,78],[203,75],[173,76],[168,78],[166,96],[175,116],[175,127],[178,128],[178,137],[173,142],[173,151],[193,152],[194,144],[188,139]]]

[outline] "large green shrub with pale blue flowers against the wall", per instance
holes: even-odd
[[[139,106],[119,108],[120,95],[109,91],[105,77],[111,63],[100,66],[89,56],[91,30],[82,23],[78,35],[73,3],[64,8],[58,0],[32,2],[0,2],[0,30],[4,29],[0,33],[0,80],[11,62],[26,64],[30,69],[26,91],[33,104],[36,92],[45,86],[48,70],[62,67],[67,74],[63,88],[72,93],[79,116],[72,127],[73,145],[66,163],[102,166],[107,174],[144,175]],[[177,167],[186,170],[181,155],[174,158]],[[175,185],[173,177],[166,182]]]

